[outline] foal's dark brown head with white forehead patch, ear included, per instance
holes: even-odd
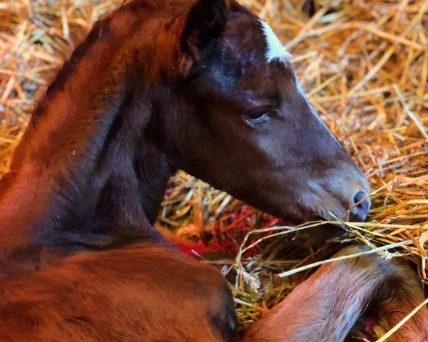
[[[295,222],[364,220],[365,176],[310,105],[272,29],[235,1],[200,0],[180,38],[177,166]],[[173,110],[171,113],[177,113]]]

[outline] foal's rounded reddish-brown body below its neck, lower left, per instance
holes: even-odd
[[[0,341],[232,341],[213,267],[167,247],[76,254],[0,284]]]

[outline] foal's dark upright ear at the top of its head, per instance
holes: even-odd
[[[190,9],[180,38],[180,48],[193,61],[200,61],[200,52],[222,36],[229,1],[198,0]]]

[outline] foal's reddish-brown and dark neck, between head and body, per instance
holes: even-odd
[[[148,38],[162,23],[145,21],[141,30],[135,11],[98,23],[39,103],[0,184],[0,253],[67,254],[161,239],[151,224],[174,170],[159,137],[146,133],[155,129],[159,75],[168,78],[161,68],[175,69],[159,60],[173,53],[158,50],[174,47]],[[175,25],[157,39],[176,38]]]

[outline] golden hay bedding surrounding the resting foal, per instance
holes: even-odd
[[[0,174],[9,170],[46,80],[120,2],[0,1]],[[308,225],[273,227],[284,222],[178,172],[158,225],[238,252],[223,271],[238,271],[243,326],[309,273],[277,274],[327,259],[337,242],[356,239],[386,257],[406,257],[428,284],[428,1],[315,0],[312,17],[310,1],[242,2],[286,42],[313,105],[370,178],[370,222],[348,224],[349,234],[320,247],[300,238]]]

